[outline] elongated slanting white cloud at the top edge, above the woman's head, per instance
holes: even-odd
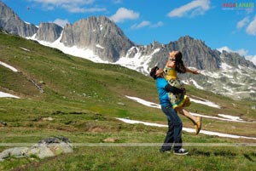
[[[167,15],[169,17],[183,17],[186,14],[189,16],[195,16],[204,14],[210,9],[210,0],[195,0],[191,3],[187,3],[180,8],[173,9]]]

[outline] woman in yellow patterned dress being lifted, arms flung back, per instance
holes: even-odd
[[[166,67],[164,68],[164,73],[166,80],[169,84],[177,88],[184,88],[183,83],[178,79],[178,73],[190,72],[193,74],[199,74],[198,70],[192,71],[189,68],[183,65],[183,55],[180,51],[172,51],[169,53],[169,60],[166,63]],[[183,109],[185,106],[190,105],[189,97],[186,94],[172,94],[169,93],[169,99],[172,103],[173,109],[175,109],[180,114],[188,117],[195,125],[195,134],[199,134],[201,130],[201,117],[194,117]]]

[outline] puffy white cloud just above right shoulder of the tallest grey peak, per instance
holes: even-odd
[[[115,14],[109,17],[114,22],[124,22],[125,20],[135,20],[139,17],[139,13],[136,13],[130,9],[119,8]]]

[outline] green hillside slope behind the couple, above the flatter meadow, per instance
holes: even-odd
[[[136,96],[158,103],[154,80],[151,77],[122,66],[97,64],[63,54],[55,48],[47,48],[34,41],[5,33],[0,33],[0,41],[0,60],[18,70],[13,72],[0,66],[3,73],[0,90],[5,93],[17,95],[22,99],[75,105],[96,112],[104,111],[115,117],[122,116],[119,110],[125,113],[122,117],[136,116],[144,120],[155,120],[160,116],[153,114],[160,111],[148,109],[125,97]],[[44,93],[41,93],[35,84],[43,88]],[[212,116],[225,113],[247,120],[255,118],[253,102],[230,100],[204,90],[189,86],[187,88],[188,94],[193,95],[195,99],[211,100],[222,106],[221,109],[208,110],[208,106],[195,104],[189,107],[191,111]]]

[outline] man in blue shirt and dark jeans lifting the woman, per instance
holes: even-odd
[[[174,154],[187,155],[189,152],[182,148],[183,123],[177,116],[177,112],[172,108],[168,97],[168,92],[172,92],[173,94],[181,94],[185,90],[172,87],[169,83],[167,83],[163,75],[163,70],[158,66],[154,66],[154,68],[151,69],[150,76],[156,80],[156,88],[159,94],[161,109],[166,114],[168,121],[166,139],[160,148],[160,152],[170,152],[174,142]]]

